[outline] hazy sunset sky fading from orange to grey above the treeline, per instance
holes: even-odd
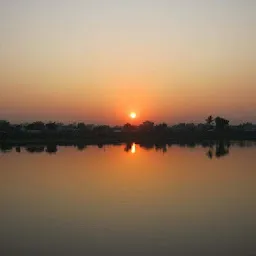
[[[256,122],[255,0],[1,0],[0,119]]]

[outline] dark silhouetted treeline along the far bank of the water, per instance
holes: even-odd
[[[0,141],[103,141],[127,140],[202,140],[202,139],[256,139],[256,125],[243,123],[230,125],[229,120],[209,116],[203,123],[179,123],[167,125],[145,121],[140,125],[126,123],[123,126],[95,125],[85,123],[63,124],[41,121],[12,124],[0,121]]]

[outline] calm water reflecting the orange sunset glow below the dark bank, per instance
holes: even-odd
[[[256,255],[252,144],[0,153],[0,255]]]

